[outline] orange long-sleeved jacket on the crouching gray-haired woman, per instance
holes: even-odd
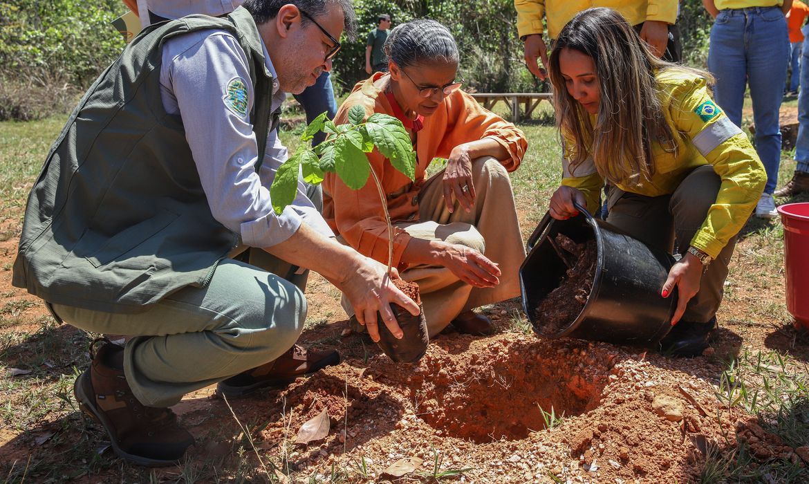
[[[348,122],[349,109],[354,105],[365,108],[366,116],[385,113],[393,116],[393,109],[384,95],[389,74],[377,72],[370,79],[357,83],[351,95],[337,111],[334,122]],[[447,158],[455,146],[481,138],[496,140],[509,153],[501,163],[509,172],[519,167],[528,146],[525,135],[515,125],[482,108],[464,91],[455,91],[444,99],[438,110],[424,119],[424,127],[417,134],[416,180],[393,168],[379,151],[368,153],[368,161],[383,185],[388,197],[388,211],[393,222],[418,222],[418,193],[425,181],[425,170],[434,158]],[[334,174],[327,173],[323,182],[323,215],[335,233],[343,236],[359,253],[382,263],[388,262],[388,226],[385,223],[379,192],[369,177],[362,189],[349,189]],[[394,227],[393,261],[400,267],[401,255],[410,241],[404,230]],[[403,268],[403,267],[400,267]]]

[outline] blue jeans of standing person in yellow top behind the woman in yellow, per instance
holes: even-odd
[[[756,151],[767,172],[765,193],[772,194],[781,164],[778,109],[786,84],[790,39],[777,6],[719,11],[710,31],[708,69],[716,77],[714,97],[735,125],[742,125],[745,84],[750,87]]]

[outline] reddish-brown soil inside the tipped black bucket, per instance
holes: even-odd
[[[544,334],[559,333],[576,321],[590,297],[598,258],[595,240],[576,244],[564,234],[557,234],[554,240],[554,247],[561,249],[559,255],[568,265],[568,270],[562,276],[559,287],[536,307],[536,321],[541,321],[537,327]],[[566,254],[561,253],[562,250]]]

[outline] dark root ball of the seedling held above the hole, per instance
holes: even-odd
[[[407,309],[398,304],[391,304],[393,316],[404,333],[404,337],[396,339],[390,332],[388,326],[382,320],[379,312],[376,313],[376,323],[379,327],[379,342],[377,346],[385,355],[396,363],[416,363],[427,350],[430,337],[427,333],[427,320],[424,317],[424,308],[421,308],[421,297],[416,282],[407,282],[402,279],[394,279],[393,284],[413,299],[421,309],[418,316],[413,316]],[[351,316],[354,318],[355,316]]]

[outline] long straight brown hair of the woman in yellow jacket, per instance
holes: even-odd
[[[599,77],[599,113],[595,126],[590,116],[565,87],[559,69],[564,49],[593,59]],[[710,74],[671,62],[650,52],[646,42],[621,14],[609,8],[579,12],[560,32],[549,59],[553,102],[560,134],[570,134],[574,146],[565,146],[571,172],[592,156],[596,169],[613,183],[640,185],[654,174],[654,142],[679,149],[679,139],[663,115],[656,74],[685,70],[713,83]]]

